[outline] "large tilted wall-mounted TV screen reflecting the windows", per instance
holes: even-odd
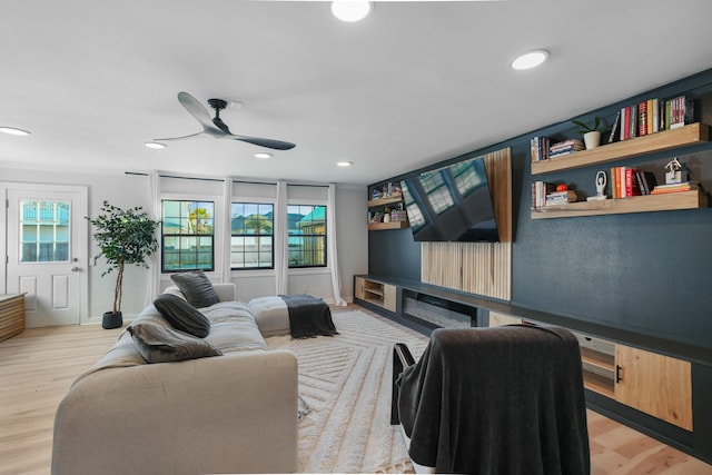
[[[500,241],[482,157],[406,178],[400,188],[416,241]]]

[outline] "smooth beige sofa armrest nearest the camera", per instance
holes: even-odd
[[[57,409],[52,474],[296,472],[297,399],[286,350],[102,369]]]

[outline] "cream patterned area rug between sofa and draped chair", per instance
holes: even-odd
[[[416,358],[427,338],[362,310],[334,311],[338,335],[267,338],[299,363],[301,473],[413,473],[397,426],[390,425],[393,345]]]

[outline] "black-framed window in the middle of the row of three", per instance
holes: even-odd
[[[233,204],[231,269],[274,269],[274,208],[264,202]]]

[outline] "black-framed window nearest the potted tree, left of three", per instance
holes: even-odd
[[[212,270],[215,202],[166,199],[161,215],[161,270]]]

